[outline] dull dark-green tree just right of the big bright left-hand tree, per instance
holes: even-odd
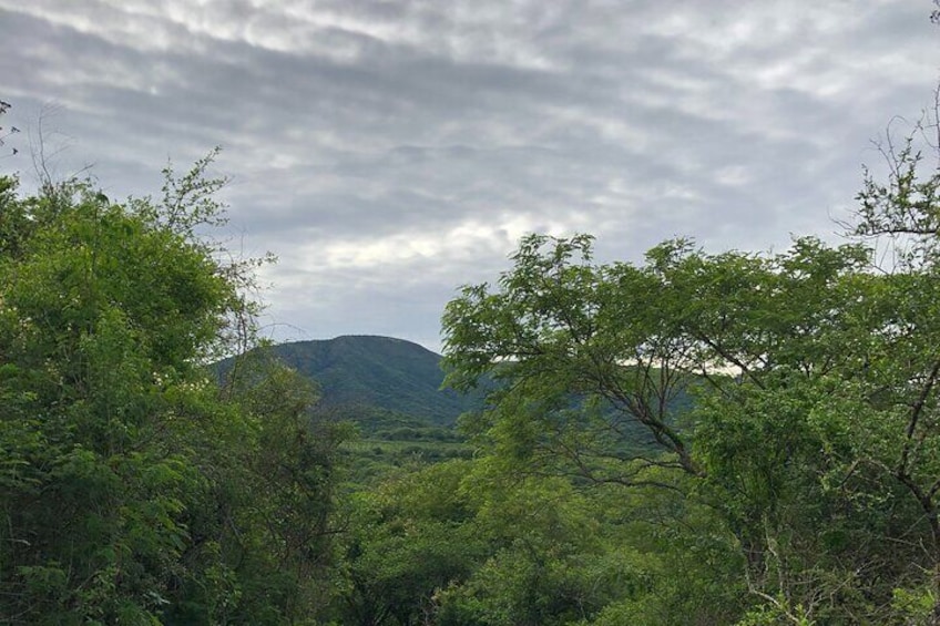
[[[262,349],[245,357],[224,392],[248,415],[252,430],[232,471],[237,492],[223,551],[242,584],[233,620],[305,624],[329,603],[341,423],[317,419],[311,381]],[[185,623],[185,622],[183,622]]]

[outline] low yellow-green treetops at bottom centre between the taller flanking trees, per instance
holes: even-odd
[[[505,470],[493,456],[451,461],[357,493],[331,616],[387,626],[662,623],[695,602],[691,573],[717,577],[734,556],[696,536],[714,528],[702,511],[681,513],[687,502],[676,492],[636,493],[626,519],[611,506],[622,493]],[[666,509],[688,530],[663,528]],[[685,550],[668,548],[680,542]],[[714,604],[695,608],[702,623],[726,620]]]

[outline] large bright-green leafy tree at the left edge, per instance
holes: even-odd
[[[60,192],[2,207],[32,226],[7,230],[0,261],[7,615],[142,620],[165,603],[200,480],[168,397],[203,380],[236,295],[151,216]]]

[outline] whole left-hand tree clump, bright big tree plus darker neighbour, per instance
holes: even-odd
[[[167,171],[162,202],[0,181],[4,623],[283,623],[317,602],[335,439],[280,369],[236,393],[206,368],[251,345],[255,310],[253,263],[197,235],[221,218],[210,162]]]

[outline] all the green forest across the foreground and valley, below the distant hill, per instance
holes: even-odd
[[[0,178],[0,622],[940,624],[938,110],[840,245],[522,239],[442,314],[457,431],[264,349],[213,154]]]

